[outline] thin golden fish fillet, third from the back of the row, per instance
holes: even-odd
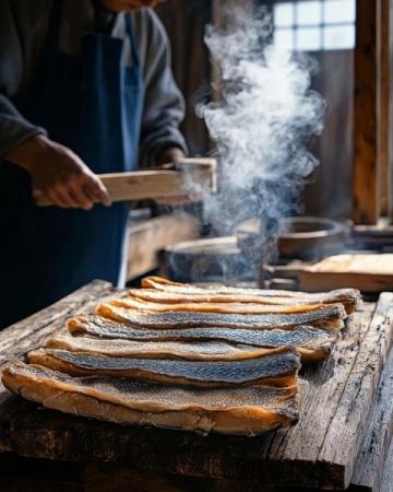
[[[130,307],[131,309],[148,312],[192,312],[192,313],[224,313],[224,314],[297,314],[318,312],[325,307],[324,304],[294,304],[294,305],[273,305],[273,304],[251,304],[251,303],[180,303],[164,304],[150,303],[132,297],[120,297],[110,301],[110,304],[120,307]],[[341,304],[333,304],[341,306]]]

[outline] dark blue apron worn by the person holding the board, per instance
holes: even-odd
[[[38,85],[24,115],[76,152],[95,173],[132,171],[138,162],[143,81],[131,17],[127,38],[86,34],[81,55],[58,51],[61,3],[48,32]],[[133,66],[124,67],[124,43]],[[29,178],[0,165],[0,328],[56,302],[93,279],[117,284],[128,206],[92,211],[37,208]]]

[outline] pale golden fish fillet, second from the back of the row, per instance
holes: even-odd
[[[147,301],[163,304],[186,304],[186,303],[246,303],[262,305],[286,305],[296,306],[298,304],[343,304],[347,314],[355,311],[358,297],[355,290],[332,291],[321,294],[306,294],[289,291],[258,291],[251,289],[229,290],[229,293],[221,292],[221,289],[214,288],[189,288],[177,290],[157,290],[157,289],[130,289],[129,296],[136,301]],[[228,289],[228,288],[227,288]],[[184,291],[184,292],[182,292]],[[247,292],[251,291],[251,292]],[[349,292],[348,292],[349,291]],[[354,291],[354,292],[353,292]]]

